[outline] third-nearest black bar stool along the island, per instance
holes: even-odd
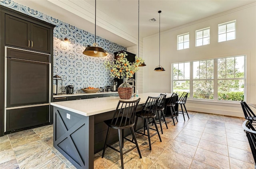
[[[165,107],[164,105],[165,105],[166,95],[167,95],[167,93],[165,93],[165,94],[161,93],[160,94],[158,106],[156,107],[156,112],[157,112],[158,119],[159,119],[159,123],[157,123],[157,124],[160,124],[162,134],[163,134],[162,124],[165,123],[165,126],[168,129],[168,126],[167,126],[167,123],[166,123],[166,120],[165,120],[165,116],[164,116],[164,107]],[[163,118],[163,120],[164,120],[163,123],[161,122],[161,118]]]

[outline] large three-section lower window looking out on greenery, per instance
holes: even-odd
[[[245,56],[172,64],[172,91],[190,92],[190,99],[244,100]]]

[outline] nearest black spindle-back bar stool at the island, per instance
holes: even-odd
[[[106,136],[106,140],[105,140],[105,143],[104,143],[102,158],[104,157],[106,146],[114,149],[115,151],[118,151],[120,153],[120,157],[121,157],[122,169],[124,169],[123,155],[128,153],[129,151],[132,151],[134,148],[137,147],[140,158],[142,158],[142,156],[140,154],[140,149],[139,149],[139,146],[138,146],[138,143],[137,143],[137,140],[136,140],[136,136],[135,136],[135,133],[134,133],[134,129],[133,129],[136,108],[137,108],[139,102],[140,102],[140,98],[138,98],[137,100],[134,100],[134,101],[119,100],[113,118],[104,121],[106,123],[106,125],[108,125],[108,131],[107,131],[107,136]],[[107,144],[108,136],[109,136],[109,132],[110,132],[109,128],[113,128],[113,129],[118,130],[120,151],[118,149],[115,149],[114,147]],[[131,133],[132,133],[132,140],[129,140],[129,139],[124,137],[124,129],[126,129],[126,128],[130,128]],[[129,149],[126,152],[123,153],[124,138],[126,140],[134,143],[136,146],[132,147],[131,149]],[[133,140],[134,140],[134,142],[133,142]]]

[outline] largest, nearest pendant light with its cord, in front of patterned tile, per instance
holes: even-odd
[[[84,55],[93,56],[93,57],[104,57],[107,55],[106,51],[99,47],[98,43],[96,43],[96,0],[95,0],[95,35],[94,35],[94,43],[92,46],[86,47],[83,51]]]

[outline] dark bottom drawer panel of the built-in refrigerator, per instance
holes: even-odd
[[[6,132],[49,124],[50,105],[6,110]]]

